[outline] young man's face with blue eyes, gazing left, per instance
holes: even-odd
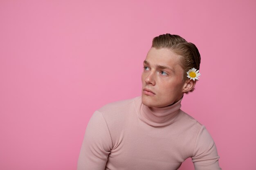
[[[180,57],[166,48],[148,51],[141,76],[144,105],[165,107],[181,99],[185,82]]]

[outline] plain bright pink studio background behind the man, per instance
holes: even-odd
[[[1,0],[0,169],[75,170],[94,110],[139,96],[152,38],[171,33],[202,56],[182,110],[223,170],[255,170],[255,18],[254,0]]]

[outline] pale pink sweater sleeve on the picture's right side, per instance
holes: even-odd
[[[204,126],[198,132],[191,158],[195,170],[221,170],[216,145]]]

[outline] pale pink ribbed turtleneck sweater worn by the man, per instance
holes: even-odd
[[[189,157],[195,170],[221,170],[213,139],[180,110],[181,100],[150,108],[136,97],[97,110],[86,128],[77,170],[177,170]]]

